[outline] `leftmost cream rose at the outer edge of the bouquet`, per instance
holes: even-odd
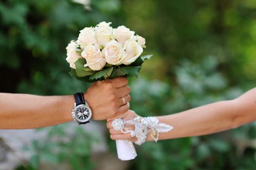
[[[68,45],[68,47],[66,47],[67,49],[67,62],[70,64],[71,68],[75,69],[75,65],[74,62],[76,62],[78,60],[78,58],[82,58],[81,55],[79,55],[76,52],[76,48],[79,47],[78,44],[76,44],[74,41],[71,41]]]

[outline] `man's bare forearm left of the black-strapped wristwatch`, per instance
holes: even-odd
[[[72,120],[73,96],[0,93],[0,129],[30,129]]]

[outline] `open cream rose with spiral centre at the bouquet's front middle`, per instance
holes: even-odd
[[[120,65],[124,59],[124,51],[122,45],[115,40],[106,44],[102,51],[103,57],[105,57],[107,63],[111,65]]]

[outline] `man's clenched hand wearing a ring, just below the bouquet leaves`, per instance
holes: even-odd
[[[109,119],[128,111],[130,87],[127,84],[124,77],[93,83],[84,94],[92,110],[92,119]]]

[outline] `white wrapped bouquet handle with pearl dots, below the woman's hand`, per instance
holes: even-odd
[[[135,159],[137,153],[132,142],[128,140],[116,140],[117,156],[122,161]]]

